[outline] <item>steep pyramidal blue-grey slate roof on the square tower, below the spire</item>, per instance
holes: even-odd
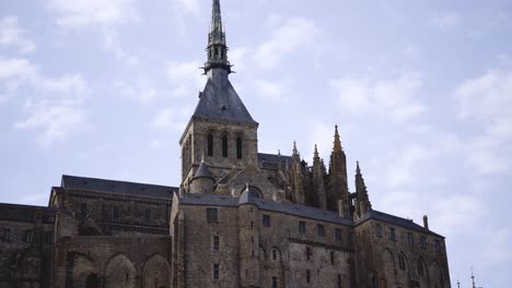
[[[216,81],[208,79],[193,117],[257,123],[251,117],[228,76],[216,77]]]

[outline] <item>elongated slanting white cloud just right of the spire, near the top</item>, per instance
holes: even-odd
[[[269,39],[256,48],[254,61],[265,69],[275,68],[281,59],[303,47],[312,47],[321,34],[316,24],[307,19],[292,17],[275,29]]]

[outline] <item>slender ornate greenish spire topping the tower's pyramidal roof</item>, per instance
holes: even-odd
[[[208,73],[212,69],[223,69],[228,71],[228,73],[231,73],[231,64],[228,61],[225,32],[222,26],[220,0],[213,0],[207,51],[208,60],[205,63],[205,73]]]

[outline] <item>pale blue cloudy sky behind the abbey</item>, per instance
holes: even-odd
[[[509,287],[512,2],[222,0],[259,152],[328,160],[339,125],[373,207],[446,237],[452,286]],[[3,0],[0,202],[62,175],[178,185],[209,0]],[[353,181],[350,190],[354,191]]]

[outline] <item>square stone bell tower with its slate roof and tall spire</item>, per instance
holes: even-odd
[[[213,0],[208,35],[207,62],[202,68],[207,84],[179,140],[182,147],[182,189],[190,183],[201,159],[218,182],[233,168],[257,163],[258,123],[251,117],[229,80],[231,64],[222,26],[219,0]]]

